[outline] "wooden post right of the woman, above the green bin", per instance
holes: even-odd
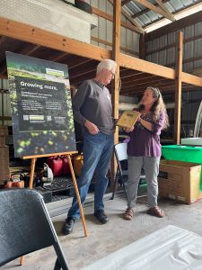
[[[183,33],[180,31],[176,42],[175,68],[175,111],[174,111],[174,143],[180,144],[181,114],[181,74],[182,74]]]

